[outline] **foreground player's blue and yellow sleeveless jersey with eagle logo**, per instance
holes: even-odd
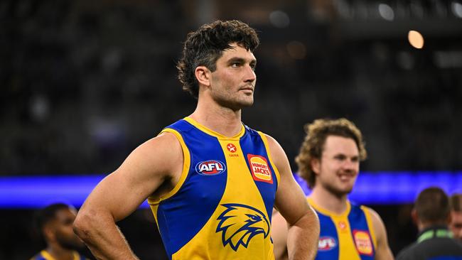
[[[183,148],[178,185],[149,198],[170,259],[274,259],[270,237],[279,172],[264,134],[222,136],[186,117],[163,129]]]

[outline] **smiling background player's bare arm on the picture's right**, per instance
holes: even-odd
[[[370,208],[367,208],[374,227],[375,237],[377,239],[377,248],[375,249],[375,259],[377,260],[390,260],[394,259],[390,246],[388,245],[387,230],[383,224],[380,215]]]

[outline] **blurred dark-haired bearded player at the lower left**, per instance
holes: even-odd
[[[85,248],[72,230],[77,211],[74,207],[55,203],[36,213],[36,227],[47,247],[31,260],[83,260],[77,250]]]

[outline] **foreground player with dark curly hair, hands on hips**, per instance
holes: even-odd
[[[136,148],[85,201],[75,231],[101,259],[136,259],[115,222],[148,198],[171,259],[273,259],[275,206],[291,259],[313,259],[319,223],[272,137],[241,122],[254,102],[257,33],[215,21],[188,34],[178,63],[193,114]]]

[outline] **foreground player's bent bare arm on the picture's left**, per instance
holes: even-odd
[[[115,222],[150,195],[160,195],[161,188],[173,188],[182,162],[176,136],[164,133],[141,144],[96,186],[77,214],[74,230],[97,259],[137,259]]]

